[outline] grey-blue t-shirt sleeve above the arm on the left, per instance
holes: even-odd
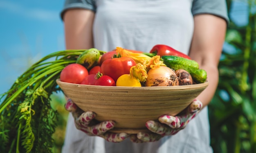
[[[61,10],[61,19],[68,9],[89,9],[96,12],[94,0],[65,0],[63,9]]]

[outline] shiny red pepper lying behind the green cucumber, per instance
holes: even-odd
[[[179,56],[184,57],[186,59],[191,59],[188,55],[184,54],[183,52],[180,52],[178,50],[175,50],[174,48],[163,45],[163,44],[157,44],[155,45],[151,50],[150,53],[154,53],[156,55],[159,55],[160,57],[164,55],[173,55],[173,56]]]

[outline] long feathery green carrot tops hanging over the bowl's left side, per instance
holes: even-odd
[[[29,67],[0,94],[0,152],[50,153],[58,112],[51,106],[61,70],[84,50],[64,50],[49,54]]]

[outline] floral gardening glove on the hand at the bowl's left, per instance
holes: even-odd
[[[111,133],[108,130],[114,128],[114,121],[97,122],[93,120],[96,114],[92,111],[84,112],[71,99],[67,100],[65,109],[72,113],[77,129],[89,136],[100,136],[109,142],[121,142],[128,137],[126,133]]]

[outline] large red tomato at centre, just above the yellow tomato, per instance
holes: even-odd
[[[135,65],[136,62],[130,57],[112,58],[101,64],[101,70],[104,75],[108,75],[117,81],[121,75],[130,74],[130,68]]]

